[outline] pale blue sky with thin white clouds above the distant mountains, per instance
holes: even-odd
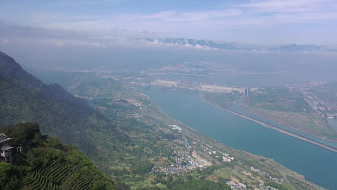
[[[0,45],[32,39],[81,45],[85,38],[91,38],[92,46],[112,38],[329,45],[337,44],[337,1],[0,1],[0,27],[5,31],[0,29]]]

